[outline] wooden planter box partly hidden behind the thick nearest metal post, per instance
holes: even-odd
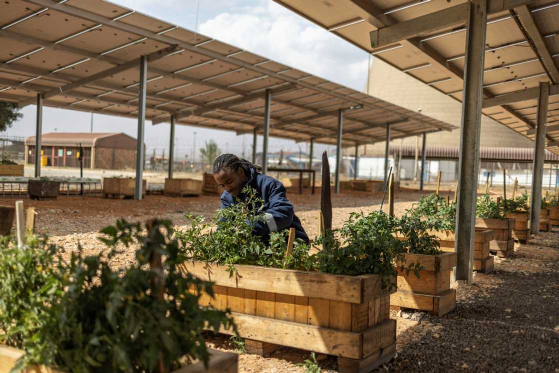
[[[449,230],[432,231],[439,239],[440,249],[454,252],[454,232]],[[482,273],[491,273],[494,267],[493,257],[489,254],[489,246],[494,238],[491,229],[476,228],[473,238],[473,270]]]

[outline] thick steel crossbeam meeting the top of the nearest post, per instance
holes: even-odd
[[[489,0],[487,1],[487,13],[508,11],[530,2],[532,0]],[[380,48],[401,40],[427,35],[452,26],[463,25],[463,23],[467,22],[467,17],[468,3],[463,3],[437,12],[428,13],[424,16],[411,18],[408,21],[399,22],[393,26],[371,31],[371,46],[372,48]]]

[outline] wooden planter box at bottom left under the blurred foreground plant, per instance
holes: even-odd
[[[193,363],[173,371],[171,373],[236,373],[238,355],[233,352],[222,352],[217,350],[210,350],[210,359],[208,361],[208,368],[204,367],[203,362]],[[16,365],[18,358],[23,356],[25,352],[18,348],[0,345],[0,373],[10,373],[12,368]],[[48,367],[31,366],[25,373],[64,373],[60,370],[51,369]]]

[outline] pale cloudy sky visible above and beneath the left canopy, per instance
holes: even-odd
[[[367,82],[368,55],[330,32],[283,8],[272,0],[112,0],[186,29],[197,30],[214,39],[239,46],[272,60],[299,68],[350,88],[363,91]],[[35,134],[35,106],[23,108],[23,119],[8,129],[8,135]],[[124,132],[137,137],[137,120],[93,114],[94,132]],[[88,132],[91,114],[45,107],[43,133],[52,131]],[[196,133],[196,135],[195,135]],[[236,136],[229,131],[177,125],[176,157],[189,155],[205,141],[215,140],[222,152],[251,153],[252,135]],[[148,154],[168,152],[169,125],[146,121]],[[244,144],[244,147],[243,147]],[[271,138],[271,152],[306,150],[307,144]],[[262,147],[262,138],[258,139]],[[257,148],[259,149],[259,148]],[[334,147],[315,146],[316,152]],[[196,157],[199,157],[198,150]]]

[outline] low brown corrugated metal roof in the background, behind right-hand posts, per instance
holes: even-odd
[[[431,159],[458,159],[457,147],[427,147],[427,158]],[[421,157],[421,146],[418,149],[419,157]],[[390,145],[390,154],[395,155],[400,153],[400,145]],[[382,155],[379,153],[376,155]],[[402,145],[401,154],[404,158],[415,157],[415,146]],[[546,162],[559,162],[559,155],[553,154],[546,150]],[[514,162],[532,162],[534,155],[533,148],[499,148],[487,147],[480,148],[481,160],[500,160],[500,161],[514,161]]]

